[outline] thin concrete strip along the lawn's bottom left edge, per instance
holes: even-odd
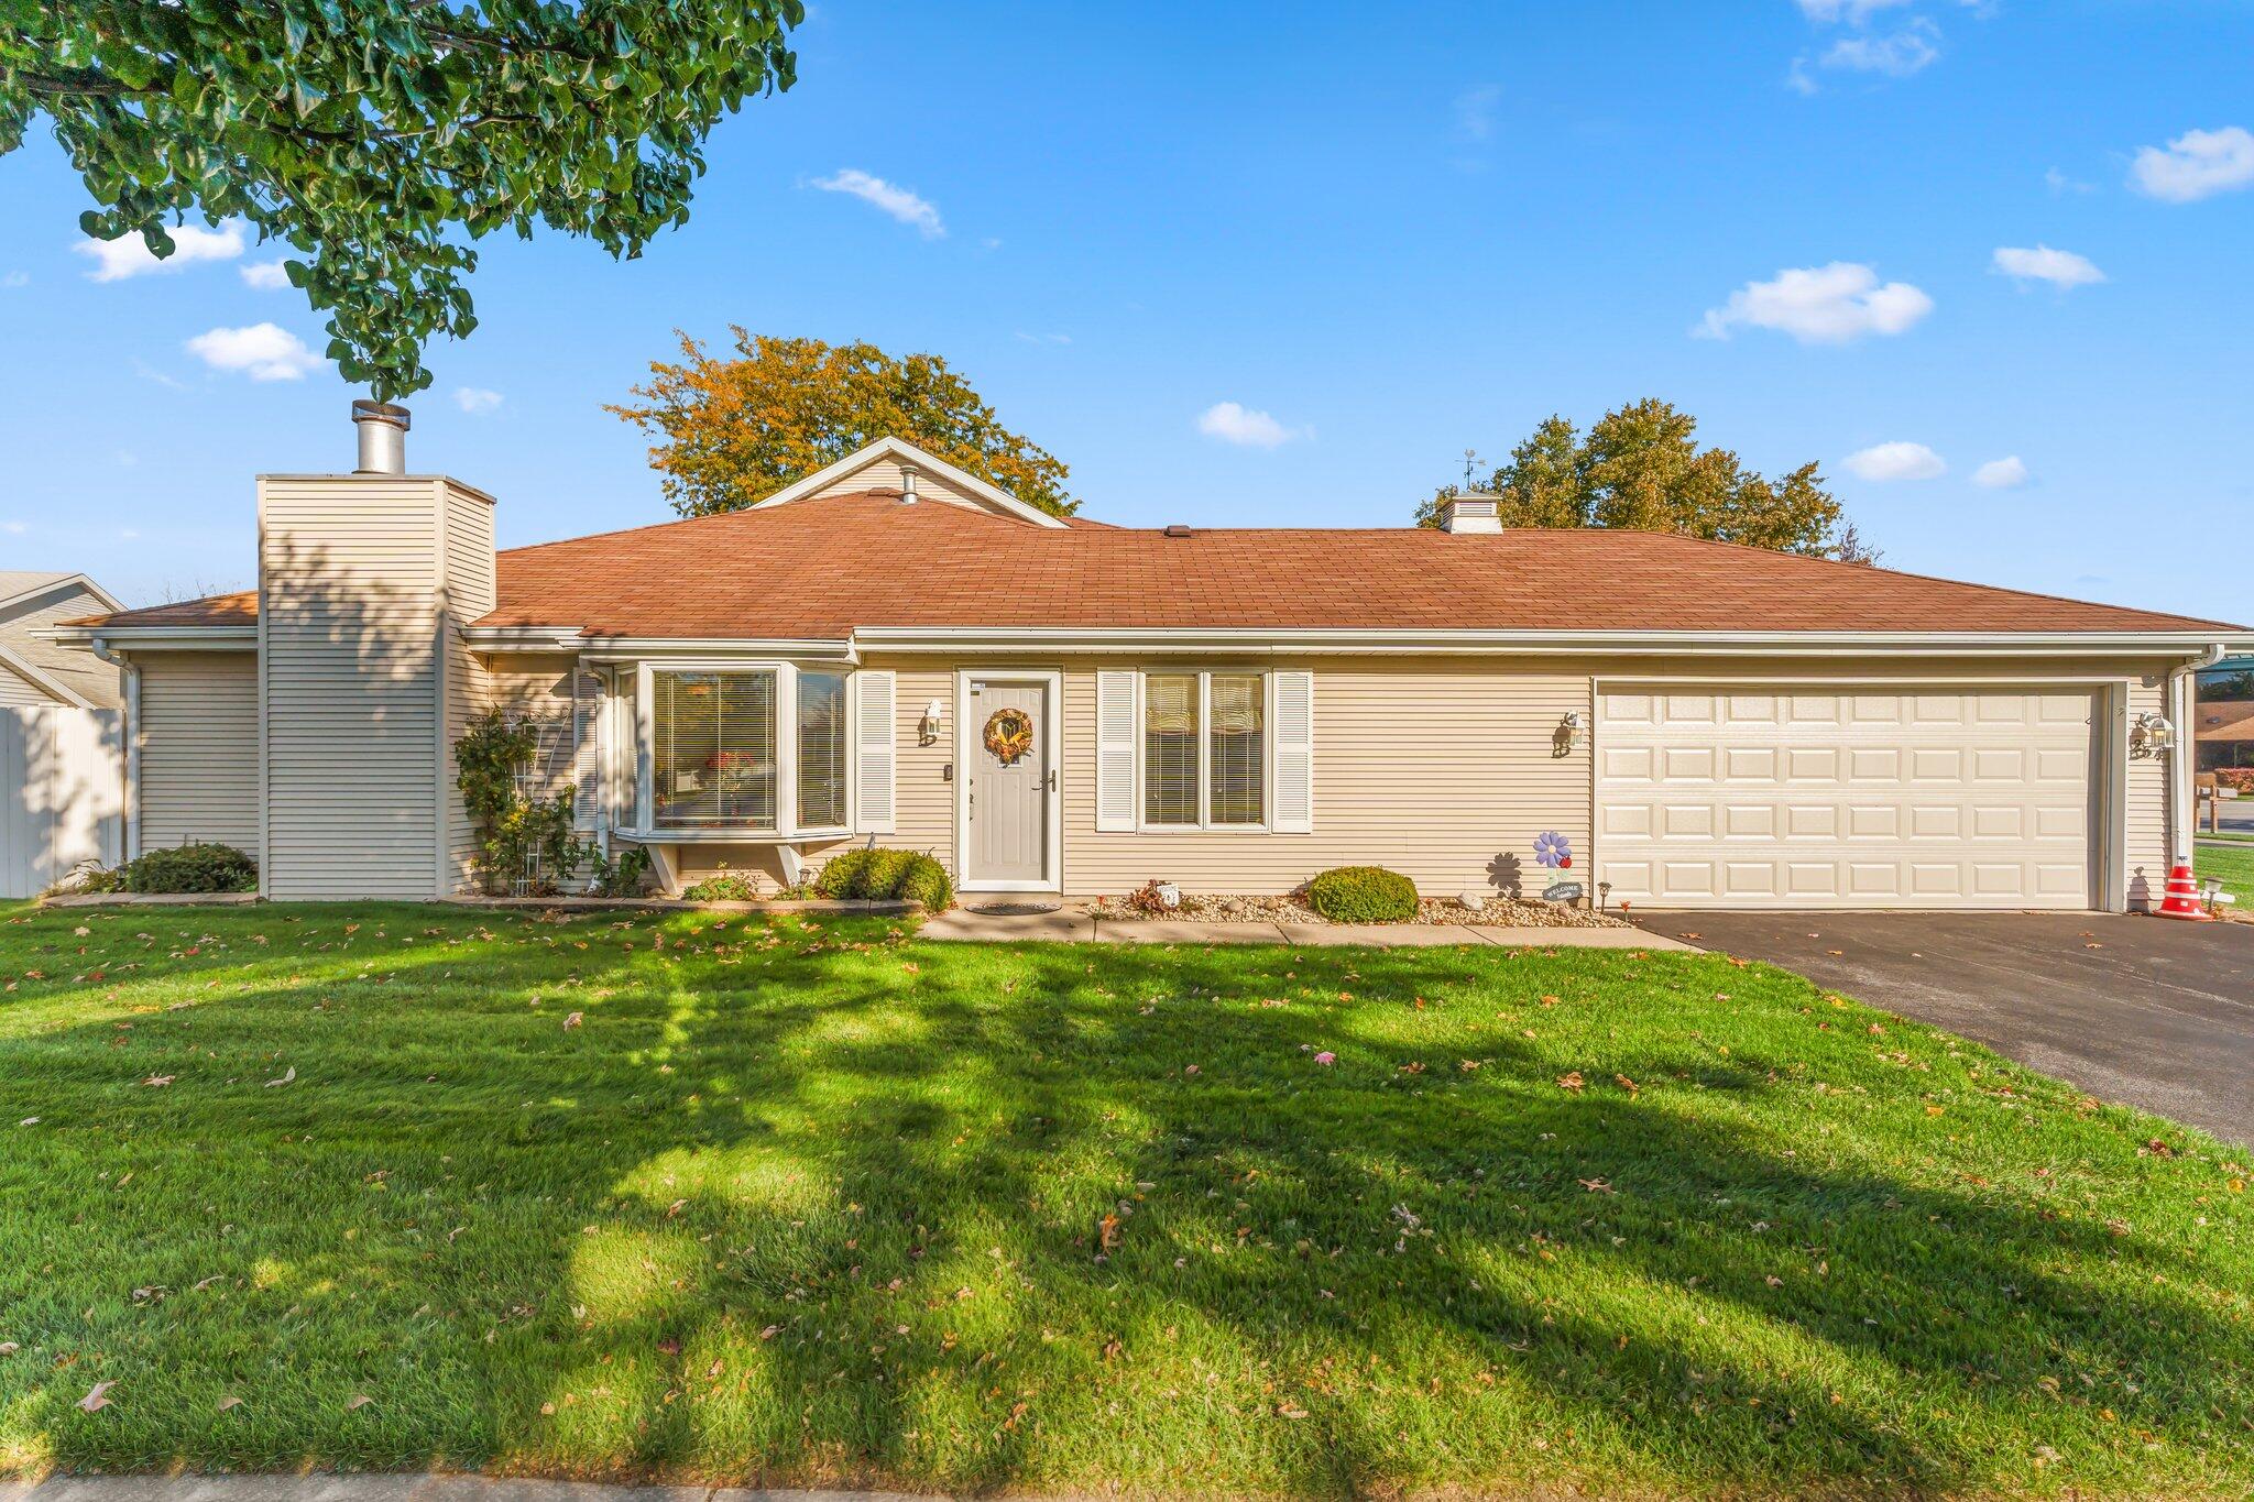
[[[904,1491],[609,1486],[489,1475],[56,1475],[0,1502],[929,1502]]]

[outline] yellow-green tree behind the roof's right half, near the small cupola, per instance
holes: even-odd
[[[1814,464],[1767,480],[1727,448],[1700,448],[1697,419],[1666,401],[1636,401],[1582,435],[1564,417],[1544,419],[1494,468],[1488,491],[1503,498],[1508,527],[1627,527],[1718,543],[1871,563],[1878,552],[1853,527]],[[1420,527],[1440,525],[1440,486],[1418,507]]]

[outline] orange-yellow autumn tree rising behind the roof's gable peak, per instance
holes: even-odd
[[[678,336],[681,360],[654,360],[633,387],[642,405],[611,408],[654,439],[649,464],[681,516],[742,511],[884,437],[1055,516],[1080,509],[1064,462],[1003,428],[940,356],[733,333],[733,356]]]

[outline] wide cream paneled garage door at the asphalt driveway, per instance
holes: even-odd
[[[1652,908],[2089,908],[2089,694],[1632,689],[1598,880]]]

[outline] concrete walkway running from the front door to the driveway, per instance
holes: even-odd
[[[1098,919],[1082,908],[1057,912],[969,912],[956,908],[926,919],[917,939],[960,944],[1296,944],[1305,948],[1623,948],[1690,950],[1666,935],[1639,928],[1497,928],[1488,923],[1201,923],[1195,919]]]

